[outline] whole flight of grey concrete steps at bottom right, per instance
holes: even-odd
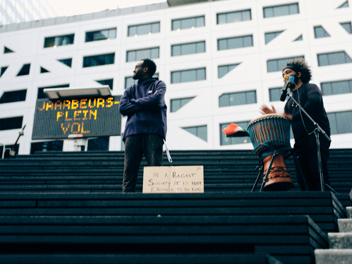
[[[328,233],[329,249],[316,249],[316,264],[352,263],[352,207],[346,207],[347,218],[338,219],[339,233]]]

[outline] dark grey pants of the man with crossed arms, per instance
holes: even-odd
[[[163,138],[155,134],[137,134],[125,138],[123,193],[133,193],[136,189],[143,154],[149,166],[163,165],[163,145]]]

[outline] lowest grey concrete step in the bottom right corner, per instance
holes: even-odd
[[[352,249],[316,249],[315,264],[351,264]]]

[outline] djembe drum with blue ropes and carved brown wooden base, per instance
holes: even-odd
[[[283,156],[290,147],[290,121],[283,115],[265,114],[254,118],[249,123],[247,131],[254,147],[253,151],[263,159],[264,175],[268,171],[274,151],[278,150],[268,175],[269,181],[265,183],[263,189],[265,191],[291,189],[294,183]]]

